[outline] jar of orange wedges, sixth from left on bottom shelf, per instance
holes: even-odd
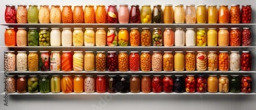
[[[61,92],[62,93],[72,93],[73,92],[73,78],[71,75],[62,75]]]

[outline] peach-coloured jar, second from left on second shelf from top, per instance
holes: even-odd
[[[18,28],[16,33],[17,46],[27,46],[27,31],[26,28]]]

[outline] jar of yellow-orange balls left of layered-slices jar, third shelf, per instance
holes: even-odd
[[[186,71],[195,71],[195,51],[186,51],[185,69]]]

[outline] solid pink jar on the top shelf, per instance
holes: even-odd
[[[119,23],[129,23],[129,9],[127,4],[119,5],[118,18]]]

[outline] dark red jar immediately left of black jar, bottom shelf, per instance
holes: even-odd
[[[172,93],[172,90],[173,90],[172,75],[164,75],[162,81],[163,81],[163,92]]]

